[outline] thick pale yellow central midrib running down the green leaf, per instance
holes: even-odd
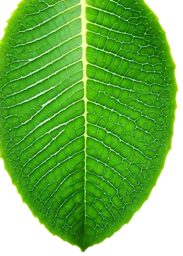
[[[85,224],[86,224],[86,17],[85,17],[85,11],[86,11],[86,3],[85,0],[81,0],[81,23],[82,23],[82,62],[83,62],[83,83],[84,83],[84,119],[85,119],[85,132],[84,132],[84,140],[85,140],[85,147],[84,147],[84,153],[85,153],[85,167],[84,167],[84,232],[85,232]],[[84,242],[84,241],[83,241]]]

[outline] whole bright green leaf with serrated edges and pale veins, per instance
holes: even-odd
[[[22,0],[1,44],[1,157],[22,202],[82,252],[129,224],[174,134],[175,62],[144,0]]]

